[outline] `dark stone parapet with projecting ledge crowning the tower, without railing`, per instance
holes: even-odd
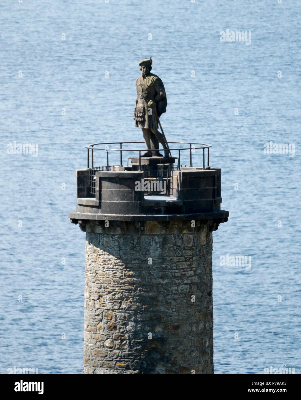
[[[69,212],[78,221],[171,221],[210,220],[225,222],[229,212],[221,210],[221,169],[183,167],[171,170],[170,196],[144,196],[137,182],[150,179],[145,171],[95,172],[95,197],[91,197],[89,170],[76,170],[77,208]],[[156,179],[156,178],[152,178]],[[84,223],[82,223],[84,225]]]

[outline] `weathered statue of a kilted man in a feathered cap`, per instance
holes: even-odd
[[[159,76],[151,74],[152,58],[145,58],[139,62],[141,76],[136,80],[137,99],[134,112],[135,126],[141,128],[147,151],[144,157],[163,157],[159,150],[159,142],[167,149],[167,142],[161,132],[158,131],[159,117],[166,112],[167,99],[165,88]],[[165,151],[165,156],[169,152]]]

